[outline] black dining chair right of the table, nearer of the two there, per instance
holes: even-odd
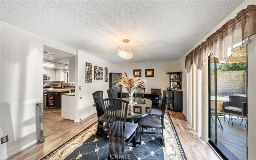
[[[166,104],[167,104],[167,99],[168,99],[168,96],[167,96],[167,93],[165,93],[163,95],[163,101],[162,101],[164,106],[166,106]],[[165,109],[166,109],[166,107],[163,107],[161,117],[158,117],[158,116],[156,116],[156,117],[154,117],[154,116],[145,116],[145,117],[140,118],[140,120],[139,120],[140,142],[141,142],[141,134],[143,134],[143,133],[162,134],[162,137],[163,137],[162,138],[162,140],[163,140],[163,147],[165,147],[165,145],[164,145],[164,136],[163,136]],[[160,132],[144,132],[143,131],[144,128],[161,128],[162,132],[161,133]]]

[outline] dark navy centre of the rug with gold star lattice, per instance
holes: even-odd
[[[148,128],[151,132],[161,132],[161,129]],[[154,131],[153,131],[154,130]],[[145,129],[144,129],[145,131]],[[130,143],[124,149],[124,159],[131,160],[162,160],[164,159],[164,150],[162,147],[162,135],[143,134],[141,144],[132,147]],[[76,148],[66,160],[105,160],[108,159],[108,134],[107,130],[93,134],[80,147]]]

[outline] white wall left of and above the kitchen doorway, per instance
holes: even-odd
[[[76,55],[76,50],[1,21],[1,159],[38,139],[38,110],[43,102],[44,45]]]

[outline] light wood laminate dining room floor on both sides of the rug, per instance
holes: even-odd
[[[180,112],[173,112],[168,110],[170,113],[173,124],[180,137],[181,144],[184,148],[187,158],[206,160],[206,159],[219,159],[215,152],[209,147],[207,143],[198,138],[196,132],[193,131],[191,126],[186,121],[186,117]],[[84,128],[97,120],[97,115],[94,114],[81,122],[71,124],[56,133],[45,138],[45,142],[37,143],[16,155],[13,155],[9,159],[40,159],[50,153],[52,150],[81,132]]]

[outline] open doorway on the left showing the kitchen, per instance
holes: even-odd
[[[44,45],[44,137],[74,124],[75,55]]]

